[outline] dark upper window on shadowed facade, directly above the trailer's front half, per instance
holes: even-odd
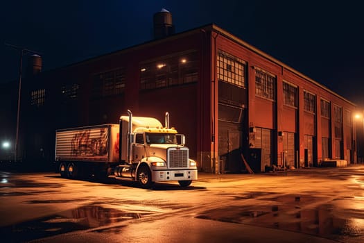
[[[125,90],[125,70],[123,68],[96,74],[92,84],[92,97],[108,97],[122,94]]]

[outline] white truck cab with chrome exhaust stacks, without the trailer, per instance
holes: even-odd
[[[120,154],[123,165],[115,168],[116,178],[131,177],[143,187],[157,181],[178,181],[186,187],[197,180],[197,167],[189,159],[184,135],[152,117],[120,117]]]

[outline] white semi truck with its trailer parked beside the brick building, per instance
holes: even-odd
[[[153,117],[133,117],[128,110],[119,124],[64,128],[55,131],[55,162],[63,178],[107,178],[155,182],[178,181],[187,187],[198,179],[185,137]]]

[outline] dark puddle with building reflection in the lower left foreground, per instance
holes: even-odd
[[[82,206],[73,210],[60,212],[34,221],[0,228],[1,240],[4,242],[28,242],[43,237],[51,237],[72,231],[87,230],[109,226],[105,231],[121,231],[121,227],[112,229],[112,224],[129,219],[140,219],[146,213],[125,212],[101,206]],[[95,232],[102,232],[95,231]]]

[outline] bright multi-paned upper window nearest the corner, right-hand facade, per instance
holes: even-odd
[[[218,53],[218,80],[245,87],[245,62],[223,51]]]

